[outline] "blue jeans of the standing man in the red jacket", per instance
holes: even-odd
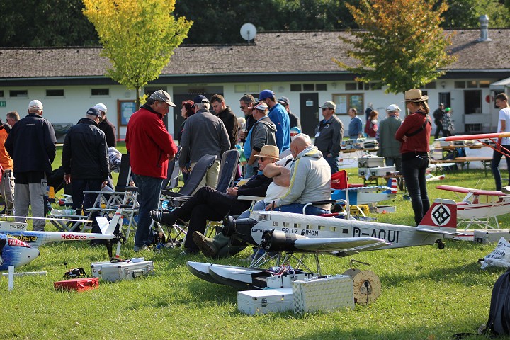
[[[133,179],[138,188],[137,200],[140,204],[138,208],[135,246],[148,246],[152,243],[152,232],[150,231],[152,219],[150,217],[150,210],[158,208],[163,179],[137,174],[133,174]]]

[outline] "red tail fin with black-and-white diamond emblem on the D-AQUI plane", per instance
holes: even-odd
[[[440,234],[455,234],[457,231],[457,205],[455,201],[436,198],[417,229]]]

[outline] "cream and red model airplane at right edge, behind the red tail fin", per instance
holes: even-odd
[[[510,195],[502,191],[477,190],[461,186],[436,186],[437,189],[465,193],[465,197],[457,204],[459,223],[487,227],[494,218],[496,227],[499,226],[497,216],[510,213]]]

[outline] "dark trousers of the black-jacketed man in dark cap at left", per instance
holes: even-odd
[[[82,210],[86,210],[92,208],[92,205],[96,201],[97,194],[96,193],[85,193],[85,190],[90,191],[99,191],[101,190],[101,185],[103,184],[103,180],[101,179],[72,179],[72,198],[73,204],[72,208],[77,210],[77,215],[81,215]],[[97,212],[91,216],[92,220],[92,232],[97,232],[101,234],[101,229],[96,222]]]

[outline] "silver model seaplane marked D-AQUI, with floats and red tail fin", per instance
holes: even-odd
[[[269,271],[257,267],[268,261],[263,258],[253,261],[251,268],[193,261],[188,261],[187,267],[193,275],[212,283],[244,289],[266,288],[267,280],[279,275],[281,271],[291,273],[291,280],[300,280],[300,276],[311,275],[297,268],[280,266],[280,263],[295,259],[294,254],[314,254],[316,273],[320,274],[319,254],[343,257],[361,251],[428,244],[438,244],[439,249],[443,249],[442,239],[453,239],[456,235],[463,234],[457,231],[456,221],[455,201],[440,198],[435,200],[418,227],[289,212],[254,211],[246,219],[234,220],[229,217],[224,222],[222,232],[225,236],[236,237],[246,244],[260,246],[265,251],[278,252],[277,267]],[[283,259],[280,257],[281,252],[286,253]],[[301,260],[297,259],[297,267],[304,266]],[[370,287],[380,285],[379,278],[371,271],[348,272],[354,276],[355,290],[356,287],[364,289],[367,299]]]

